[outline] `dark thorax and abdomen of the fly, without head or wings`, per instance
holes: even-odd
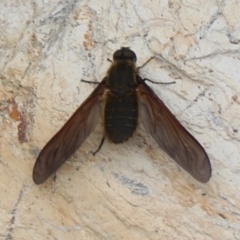
[[[129,61],[118,60],[108,71],[104,126],[113,143],[130,138],[137,127],[137,69]]]

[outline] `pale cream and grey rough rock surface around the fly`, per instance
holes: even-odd
[[[240,239],[239,1],[0,3],[0,239]],[[46,142],[129,46],[141,76],[206,149],[207,184],[180,169],[142,125],[105,142],[101,124],[42,185]]]

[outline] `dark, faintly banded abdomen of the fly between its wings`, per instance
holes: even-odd
[[[130,138],[137,127],[138,103],[135,92],[130,95],[107,96],[105,106],[105,132],[113,143]]]

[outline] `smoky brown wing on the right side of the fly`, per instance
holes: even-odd
[[[137,90],[139,116],[147,132],[196,180],[207,182],[211,164],[203,147],[142,80]]]

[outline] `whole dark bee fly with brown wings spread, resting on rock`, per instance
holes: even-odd
[[[146,131],[196,180],[207,182],[211,164],[203,147],[139,76],[136,54],[122,47],[106,77],[40,152],[33,181],[43,183],[93,132],[104,109],[105,135],[113,143],[130,138],[138,117]]]

